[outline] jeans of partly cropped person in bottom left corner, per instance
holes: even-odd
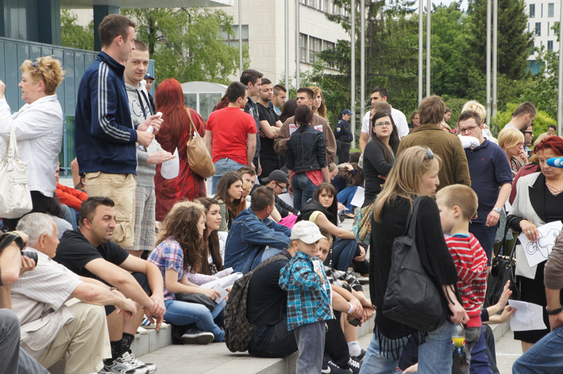
[[[20,348],[20,320],[10,309],[0,309],[0,373],[49,374]]]

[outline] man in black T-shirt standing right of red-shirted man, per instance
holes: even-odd
[[[258,179],[262,185],[265,185],[264,178],[279,169],[279,155],[274,150],[274,138],[282,123],[274,109],[268,105],[273,97],[272,82],[270,79],[262,78],[262,88],[258,93],[258,103],[256,103],[260,117],[260,165],[262,166],[262,174]]]

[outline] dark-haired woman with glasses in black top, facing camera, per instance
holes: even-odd
[[[364,149],[365,207],[374,202],[395,162],[399,135],[393,117],[380,110],[372,117],[372,138]]]

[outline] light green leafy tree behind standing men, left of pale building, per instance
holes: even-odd
[[[238,72],[239,49],[227,46],[224,35],[234,36],[232,17],[208,8],[122,9],[137,24],[137,39],[148,46],[155,60],[158,82],[206,81],[229,84]],[[244,65],[250,65],[248,48]]]

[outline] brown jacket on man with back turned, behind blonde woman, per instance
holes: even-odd
[[[471,187],[471,177],[467,166],[467,157],[462,142],[454,134],[448,134],[436,124],[422,124],[400,140],[397,156],[412,146],[429,147],[442,159],[442,168],[438,172],[440,185],[436,191],[450,184],[464,184]]]

